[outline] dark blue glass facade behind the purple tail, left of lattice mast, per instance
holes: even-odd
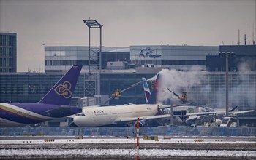
[[[61,73],[1,73],[0,102],[38,102],[61,79]],[[84,76],[80,75],[73,97],[83,97]]]

